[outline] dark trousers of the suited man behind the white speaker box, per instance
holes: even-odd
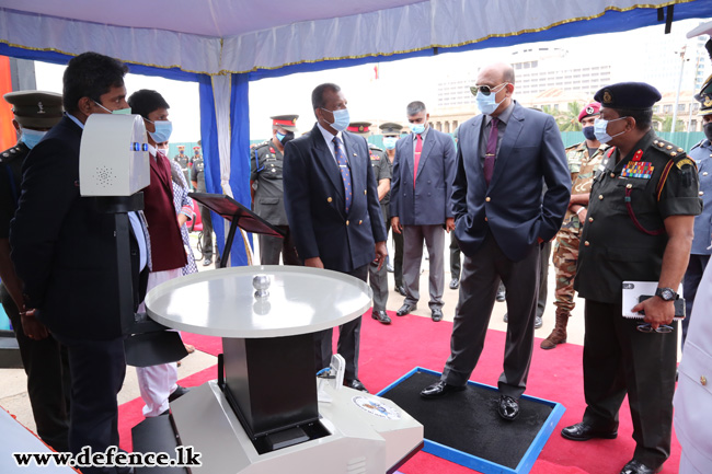
[[[118,447],[116,395],[126,375],[124,339],[76,339],[55,334],[69,351],[71,413],[69,450],[77,454],[84,446],[93,452]],[[111,473],[115,467],[82,467],[84,474]]]

